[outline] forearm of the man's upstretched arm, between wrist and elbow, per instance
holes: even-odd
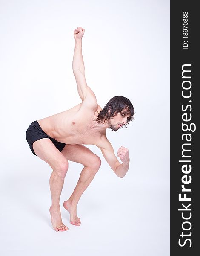
[[[82,39],[75,40],[75,49],[74,49],[72,68],[73,68],[74,75],[77,70],[83,73],[85,71],[85,67],[83,63],[83,55],[82,55]]]

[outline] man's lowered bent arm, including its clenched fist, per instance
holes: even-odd
[[[128,172],[128,170],[129,170],[130,159],[129,159],[128,149],[124,148],[123,146],[121,146],[118,149],[117,156],[120,157],[120,160],[123,162],[123,163],[120,163],[117,160],[117,157],[114,154],[113,147],[112,147],[111,143],[108,141],[108,139],[106,138],[106,136],[103,137],[100,144],[97,146],[100,148],[104,158],[108,162],[111,169],[114,171],[114,173],[118,177],[123,178],[126,175],[126,172]]]

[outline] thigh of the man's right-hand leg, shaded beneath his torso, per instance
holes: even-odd
[[[84,166],[89,166],[95,161],[100,160],[96,154],[83,145],[66,144],[61,153],[66,157],[67,160],[81,163]]]

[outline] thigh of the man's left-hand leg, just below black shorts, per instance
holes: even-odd
[[[54,146],[48,138],[37,140],[33,143],[35,154],[48,163],[51,168],[59,169],[67,164],[66,157]]]

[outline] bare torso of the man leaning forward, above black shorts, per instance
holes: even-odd
[[[97,131],[94,119],[101,111],[83,108],[80,103],[73,108],[57,113],[53,116],[37,120],[43,131],[55,140],[66,144],[93,144],[96,145],[106,130]]]

